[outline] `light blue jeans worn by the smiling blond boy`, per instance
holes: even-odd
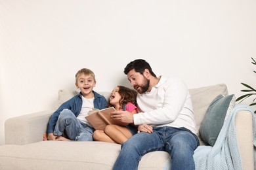
[[[63,109],[58,116],[53,134],[64,135],[72,141],[93,141],[95,129],[84,122],[77,120],[75,114],[69,109]]]

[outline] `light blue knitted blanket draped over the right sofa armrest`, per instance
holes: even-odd
[[[196,170],[230,170],[242,169],[238,141],[236,140],[236,115],[240,110],[247,110],[253,116],[253,152],[256,163],[256,116],[247,105],[235,105],[226,118],[214,146],[198,146],[194,153]],[[256,167],[256,165],[254,165]],[[171,169],[171,159],[164,169]]]

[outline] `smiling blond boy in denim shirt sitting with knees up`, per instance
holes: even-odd
[[[93,141],[93,132],[85,119],[92,108],[104,109],[107,101],[93,91],[95,74],[90,69],[81,69],[75,74],[75,86],[79,94],[63,103],[51,116],[43,141]]]

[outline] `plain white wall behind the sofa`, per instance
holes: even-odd
[[[96,91],[129,86],[137,58],[188,88],[226,83],[237,97],[255,86],[256,1],[0,0],[0,144],[5,120],[53,109],[77,70]]]

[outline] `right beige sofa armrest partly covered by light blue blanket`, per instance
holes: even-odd
[[[236,137],[243,169],[253,170],[253,118],[251,112],[242,110],[236,115]]]

